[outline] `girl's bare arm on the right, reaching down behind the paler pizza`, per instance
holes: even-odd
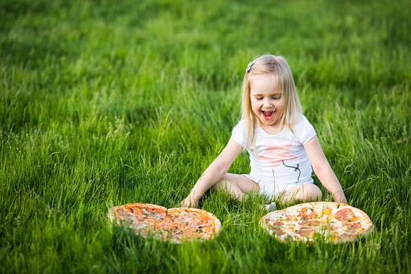
[[[334,171],[329,166],[327,158],[325,158],[319,139],[314,136],[304,145],[304,149],[306,149],[314,173],[319,177],[321,184],[332,194],[334,201],[337,203],[347,203],[343,188],[341,188],[340,182],[338,182]]]

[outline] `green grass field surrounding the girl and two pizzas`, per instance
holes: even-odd
[[[405,0],[1,1],[0,272],[411,273],[410,29]],[[203,244],[109,225],[112,206],[171,208],[188,195],[264,53],[288,59],[373,232],[278,242],[258,227],[260,198],[222,192],[201,200],[223,223]],[[229,172],[249,172],[247,153]]]

